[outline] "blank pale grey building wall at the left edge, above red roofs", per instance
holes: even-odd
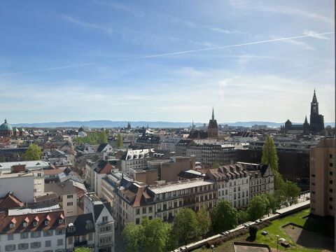
[[[34,175],[0,176],[0,197],[13,192],[22,202],[34,202]]]

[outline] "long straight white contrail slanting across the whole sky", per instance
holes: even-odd
[[[99,64],[99,63],[120,62],[120,61],[132,60],[132,59],[151,59],[151,58],[155,58],[155,57],[165,57],[165,56],[172,56],[172,55],[184,55],[184,54],[193,53],[193,52],[204,52],[204,51],[208,51],[208,50],[235,48],[235,47],[244,46],[244,45],[256,45],[256,44],[260,44],[260,43],[286,41],[286,40],[295,39],[295,38],[316,37],[316,36],[322,36],[322,35],[328,35],[328,34],[335,34],[335,31],[323,32],[323,33],[320,33],[320,34],[307,34],[307,35],[301,35],[301,36],[292,36],[292,37],[286,37],[286,38],[274,38],[274,39],[269,39],[269,40],[265,40],[265,41],[239,43],[239,44],[235,44],[235,45],[220,45],[220,46],[214,46],[214,47],[202,48],[202,49],[196,49],[196,50],[185,50],[185,51],[179,51],[179,52],[167,52],[167,53],[162,53],[162,54],[157,54],[157,55],[144,55],[144,56],[136,56],[136,57],[127,57],[127,58],[123,58],[123,59],[114,59],[114,60],[111,60],[111,61],[104,61],[104,62],[91,62],[91,63],[83,63],[83,64],[73,64],[73,65],[68,65],[68,66],[56,66],[56,67],[50,67],[50,68],[46,68],[46,69],[17,71],[17,72],[11,72],[11,73],[0,73],[0,77],[1,76],[12,76],[12,75],[22,74],[22,73],[35,73],[35,72],[52,71],[52,70],[58,70],[58,69],[69,69],[69,68],[75,68],[75,67],[81,67],[81,66],[92,66],[94,64]]]

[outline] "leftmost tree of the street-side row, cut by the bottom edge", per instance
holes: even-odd
[[[125,241],[126,251],[138,252],[143,243],[143,232],[141,225],[134,223],[127,223],[123,230],[123,237]]]

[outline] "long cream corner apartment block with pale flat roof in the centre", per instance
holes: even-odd
[[[216,185],[203,178],[146,186],[126,176],[109,174],[102,186],[120,230],[127,223],[141,224],[145,217],[171,221],[183,207],[211,209],[217,201]]]

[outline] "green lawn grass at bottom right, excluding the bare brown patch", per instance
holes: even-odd
[[[279,237],[286,239],[288,242],[290,242],[291,247],[290,248],[283,248],[279,245],[279,250],[281,251],[306,251],[306,252],[313,252],[313,251],[322,251],[322,249],[311,249],[311,248],[304,248],[302,246],[297,246],[295,242],[290,239],[290,237],[287,235],[285,230],[281,228],[283,225],[286,225],[287,223],[295,223],[297,225],[301,225],[304,227],[304,229],[314,231],[321,233],[323,235],[333,234],[333,225],[331,225],[330,221],[321,221],[321,219],[315,220],[312,218],[302,218],[304,216],[307,216],[309,214],[309,209],[304,209],[303,211],[298,212],[297,214],[293,214],[291,216],[286,216],[284,218],[279,218],[274,221],[272,221],[272,224],[269,225],[267,228],[263,228],[261,230],[258,230],[257,238],[255,239],[255,242],[258,244],[267,244],[272,248],[276,248],[276,235],[279,235]],[[269,235],[263,236],[260,234],[262,230],[267,230],[269,232]],[[244,235],[241,237],[237,237],[236,239],[232,239],[230,241],[223,242],[220,246],[217,246],[214,248],[215,251],[234,251],[233,249],[233,242],[234,241],[246,241],[246,238],[248,235]],[[201,251],[211,251],[207,248],[200,248],[196,250],[197,252]]]

